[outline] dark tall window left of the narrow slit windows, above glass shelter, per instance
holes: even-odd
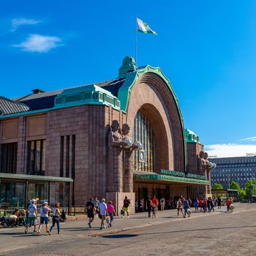
[[[28,174],[45,175],[45,140],[29,141]]]

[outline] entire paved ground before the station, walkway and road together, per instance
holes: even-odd
[[[176,210],[116,217],[114,227],[99,230],[87,220],[61,225],[61,235],[24,233],[23,227],[0,229],[0,255],[256,255],[256,204],[236,203],[214,213],[176,217]],[[32,229],[31,229],[32,231]],[[44,232],[44,227],[42,227]]]

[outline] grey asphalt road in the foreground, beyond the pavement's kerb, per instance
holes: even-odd
[[[0,244],[4,241],[7,248],[1,246],[0,255],[256,256],[256,205],[247,209],[232,214],[221,211],[189,219],[170,219],[164,224],[96,237],[74,232],[69,236],[41,236],[34,241],[37,235],[10,233],[7,238],[7,234],[0,233]],[[23,244],[11,249],[19,236],[24,237]]]

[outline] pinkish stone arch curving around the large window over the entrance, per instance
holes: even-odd
[[[185,144],[182,116],[177,106],[176,97],[159,75],[146,72],[129,90],[127,104],[127,124],[132,128],[138,111],[146,111],[152,125],[157,130],[158,138],[165,138],[159,146],[161,156],[156,170],[185,170]]]

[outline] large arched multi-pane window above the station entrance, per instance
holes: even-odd
[[[133,139],[140,141],[143,146],[142,151],[135,151],[133,168],[147,172],[154,171],[154,132],[148,118],[143,113],[135,116]]]

